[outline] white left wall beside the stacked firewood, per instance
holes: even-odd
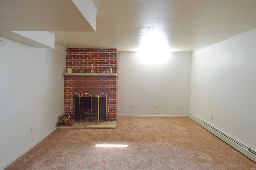
[[[9,39],[0,45],[0,169],[55,130],[64,70],[63,54]]]

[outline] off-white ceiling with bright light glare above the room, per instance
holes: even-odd
[[[68,48],[194,51],[256,28],[256,0],[92,0],[96,31],[72,0],[0,0],[0,36],[50,31]]]

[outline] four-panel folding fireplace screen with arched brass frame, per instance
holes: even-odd
[[[98,124],[107,120],[107,95],[73,94],[73,116],[79,123],[93,121]]]

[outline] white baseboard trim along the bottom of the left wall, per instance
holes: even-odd
[[[22,152],[20,152],[18,155],[14,156],[14,158],[12,158],[11,160],[9,160],[8,162],[6,162],[6,164],[4,164],[3,166],[0,167],[0,170],[4,170],[4,168],[6,168],[7,166],[9,166],[12,162],[14,162],[16,159],[20,158],[20,156],[22,156],[23,154],[25,154],[26,152],[28,152],[30,149],[32,149],[34,146],[36,146],[39,142],[41,142],[42,140],[44,140],[44,138],[46,138],[49,134],[51,134],[52,132],[54,132],[54,130],[56,130],[57,128],[53,128],[52,130],[50,130],[47,134],[45,134],[44,136],[42,136],[40,139],[36,140],[36,142],[34,142],[33,144],[31,144],[30,146],[28,146],[28,148],[24,149]]]

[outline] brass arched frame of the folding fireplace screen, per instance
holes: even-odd
[[[78,93],[74,93],[73,95],[72,95],[72,98],[73,98],[73,114],[75,114],[75,116],[76,116],[76,109],[75,109],[75,107],[76,107],[76,104],[75,104],[75,98],[76,97],[79,97],[79,123],[85,123],[85,122],[89,122],[89,121],[81,121],[81,117],[82,116],[84,116],[84,117],[86,117],[86,114],[85,114],[85,112],[84,112],[84,115],[83,114],[81,114],[81,98],[82,97],[84,97],[84,96],[89,96],[90,97],[90,112],[89,112],[89,114],[90,115],[87,115],[87,116],[90,116],[90,119],[89,119],[89,121],[93,121],[93,122],[96,122],[96,123],[98,123],[98,124],[100,124],[100,123],[103,123],[103,122],[105,122],[105,121],[107,121],[107,95],[105,94],[105,93],[101,93],[100,95],[97,95],[97,94],[95,94],[95,93],[83,93],[83,94],[78,94]],[[97,112],[98,112],[98,117],[97,118],[95,118],[95,113],[93,113],[93,111],[95,111],[96,112],[96,109],[93,109],[92,107],[92,103],[93,103],[93,101],[92,101],[92,98],[94,98],[94,97],[97,97]],[[104,109],[104,108],[100,108],[100,98],[101,97],[106,97],[106,108]],[[95,98],[94,98],[95,99]],[[102,117],[100,117],[100,115],[102,115],[102,111],[101,111],[101,113],[100,113],[100,110],[103,110],[103,112],[105,112],[105,114],[103,115],[103,116],[105,116],[106,117],[106,119],[103,117],[103,119],[105,119],[104,121],[102,121],[101,119],[102,119]],[[75,113],[74,113],[75,112]],[[88,113],[87,111],[86,111],[86,113]],[[95,119],[96,119],[96,121],[95,121]]]

